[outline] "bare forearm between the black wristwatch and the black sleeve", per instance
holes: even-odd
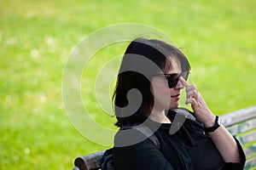
[[[236,140],[223,125],[209,134],[225,162],[241,161]]]

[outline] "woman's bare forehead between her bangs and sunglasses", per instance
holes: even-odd
[[[164,68],[166,73],[180,73],[182,72],[179,59],[177,57],[166,58],[166,67]]]

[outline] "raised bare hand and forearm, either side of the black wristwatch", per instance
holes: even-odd
[[[186,88],[186,104],[191,104],[196,118],[200,122],[203,122],[205,127],[212,127],[215,123],[216,116],[210,111],[195,85],[189,85],[183,78],[180,81]],[[241,162],[236,140],[223,125],[209,134],[225,162]]]

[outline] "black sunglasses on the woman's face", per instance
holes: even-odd
[[[189,71],[183,71],[180,74],[178,73],[160,74],[159,76],[166,77],[169,88],[175,88],[177,86],[177,82],[179,81],[180,77],[183,77],[183,79],[188,80]]]

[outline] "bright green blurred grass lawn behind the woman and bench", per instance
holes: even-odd
[[[255,8],[253,0],[0,0],[0,169],[71,169],[76,156],[106,148],[73,127],[61,97],[73,47],[103,26],[139,23],[172,37],[186,48],[193,82],[216,114],[255,105]],[[113,128],[94,102],[94,72],[88,75],[83,99]]]

